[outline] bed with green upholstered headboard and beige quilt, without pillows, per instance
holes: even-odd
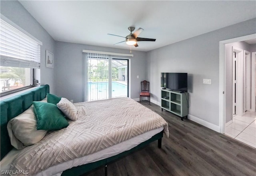
[[[78,120],[69,121],[66,128],[48,132],[32,146],[14,149],[7,132],[8,121],[27,110],[33,101],[43,100],[49,90],[49,86],[44,85],[0,102],[1,173],[2,170],[16,173],[22,170],[20,175],[81,175],[105,166],[107,174],[109,162],[155,140],[158,140],[158,147],[161,148],[163,133],[168,136],[167,122],[163,119],[159,124],[150,122],[150,119],[161,118],[158,114],[130,98],[113,98],[74,104],[80,117]],[[118,119],[120,116],[123,116],[122,120]],[[111,130],[108,132],[107,128]],[[95,136],[98,139],[96,142],[92,140]],[[41,151],[50,150],[49,147],[58,147],[58,152],[52,155],[61,157],[48,159],[51,153]],[[29,162],[36,164],[28,166]]]

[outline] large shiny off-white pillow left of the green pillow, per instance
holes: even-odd
[[[42,102],[47,102],[46,99]],[[46,135],[46,130],[37,130],[37,119],[34,114],[34,106],[31,105],[22,114],[12,118],[7,124],[7,130],[12,146],[22,149],[36,144]]]

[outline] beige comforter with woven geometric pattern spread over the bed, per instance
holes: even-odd
[[[91,154],[134,136],[168,124],[158,114],[130,98],[112,98],[74,104],[78,120],[67,128],[48,133],[40,142],[24,148],[10,170],[36,174],[55,164]]]

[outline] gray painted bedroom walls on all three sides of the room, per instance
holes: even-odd
[[[82,102],[84,97],[83,49],[129,53],[129,50],[55,42],[18,1],[1,1],[0,10],[1,14],[43,43],[40,83],[49,84],[51,93],[73,99],[74,102]],[[133,51],[131,98],[139,97],[140,81],[148,79],[152,101],[159,103],[160,72],[188,72],[190,116],[218,126],[219,41],[255,32],[254,18],[146,53]],[[54,68],[45,67],[45,50],[54,53]],[[212,84],[202,84],[203,78],[211,79]]]

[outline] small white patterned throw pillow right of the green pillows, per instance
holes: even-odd
[[[77,120],[77,109],[68,99],[61,98],[60,102],[57,103],[57,106],[67,118],[73,121]]]

